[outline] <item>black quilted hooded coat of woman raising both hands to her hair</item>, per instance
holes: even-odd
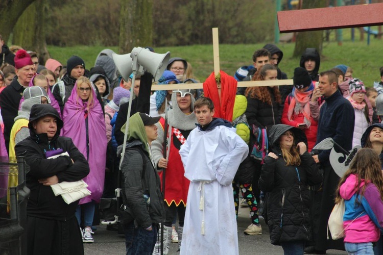
[[[293,131],[296,143],[301,139],[304,141],[304,133],[299,129],[288,125],[274,126],[270,132],[270,142],[273,142],[271,150],[278,159],[269,156],[264,159],[258,182],[259,188],[268,192],[265,217],[274,245],[310,239],[308,186],[322,182],[319,168],[307,151],[300,156],[299,166],[286,166],[278,144],[279,137],[286,130]]]

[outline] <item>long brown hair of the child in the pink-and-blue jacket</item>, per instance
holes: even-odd
[[[379,198],[380,200],[383,200],[383,175],[381,174],[379,156],[375,150],[371,148],[362,148],[358,150],[351,161],[350,168],[346,171],[338,184],[335,198],[336,203],[341,201],[341,186],[351,174],[355,174],[357,177],[357,183],[355,184],[355,193],[357,194],[355,199],[356,205],[361,205],[363,195],[369,182],[376,186],[379,190]],[[362,181],[364,181],[364,185],[361,187]]]

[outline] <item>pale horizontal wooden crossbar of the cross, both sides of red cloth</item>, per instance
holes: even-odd
[[[238,82],[237,87],[259,87],[259,86],[281,86],[293,85],[293,80],[275,80],[275,81],[250,81]],[[202,83],[179,83],[169,85],[152,85],[152,90],[176,90],[176,89],[203,89]]]

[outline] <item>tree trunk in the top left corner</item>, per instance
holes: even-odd
[[[0,32],[3,40],[7,43],[10,34],[27,7],[35,0],[0,0]]]

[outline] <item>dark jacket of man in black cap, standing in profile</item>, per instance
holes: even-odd
[[[142,155],[145,158],[142,158]],[[135,223],[147,228],[152,223],[163,222],[165,209],[159,175],[141,141],[132,140],[127,144],[121,171],[124,179],[122,183],[124,205],[128,207],[128,212]],[[150,197],[149,206],[143,197],[144,194]]]

